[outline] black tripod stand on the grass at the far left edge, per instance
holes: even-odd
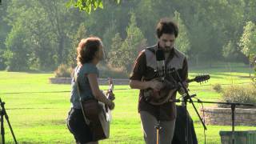
[[[1,121],[1,135],[2,135],[2,144],[5,144],[5,129],[4,129],[4,126],[3,126],[3,120],[4,120],[4,117],[6,118],[6,122],[8,123],[8,126],[10,128],[10,132],[14,138],[14,142],[15,144],[17,144],[18,142],[16,141],[16,138],[14,136],[14,131],[12,129],[12,127],[10,126],[10,121],[9,121],[9,117],[6,113],[6,109],[5,109],[5,102],[2,102],[1,98],[0,98],[0,105],[1,105],[1,110],[0,110],[0,121]]]

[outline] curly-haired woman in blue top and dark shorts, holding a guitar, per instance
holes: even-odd
[[[94,131],[90,128],[94,122],[90,122],[90,125],[86,122],[81,103],[95,100],[102,102],[110,110],[114,109],[114,102],[106,98],[98,86],[97,64],[104,58],[101,39],[96,37],[82,39],[77,48],[77,55],[78,66],[72,78],[71,110],[68,114],[67,126],[77,143],[97,144],[98,140],[94,139]],[[114,97],[111,90],[107,93]]]

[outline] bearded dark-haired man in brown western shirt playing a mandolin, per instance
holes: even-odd
[[[170,19],[162,18],[158,22],[156,33],[158,43],[142,50],[134,62],[130,87],[140,90],[138,112],[146,143],[157,143],[159,134],[162,144],[170,144],[176,118],[173,100],[177,91],[182,91],[177,75],[187,86],[188,66],[185,55],[174,48],[175,39],[178,37],[178,26]],[[162,51],[163,66],[159,66],[158,50]],[[163,72],[159,70],[161,67],[164,67]],[[173,70],[177,70],[178,74],[175,75]],[[155,126],[158,122],[162,129],[157,134]]]

